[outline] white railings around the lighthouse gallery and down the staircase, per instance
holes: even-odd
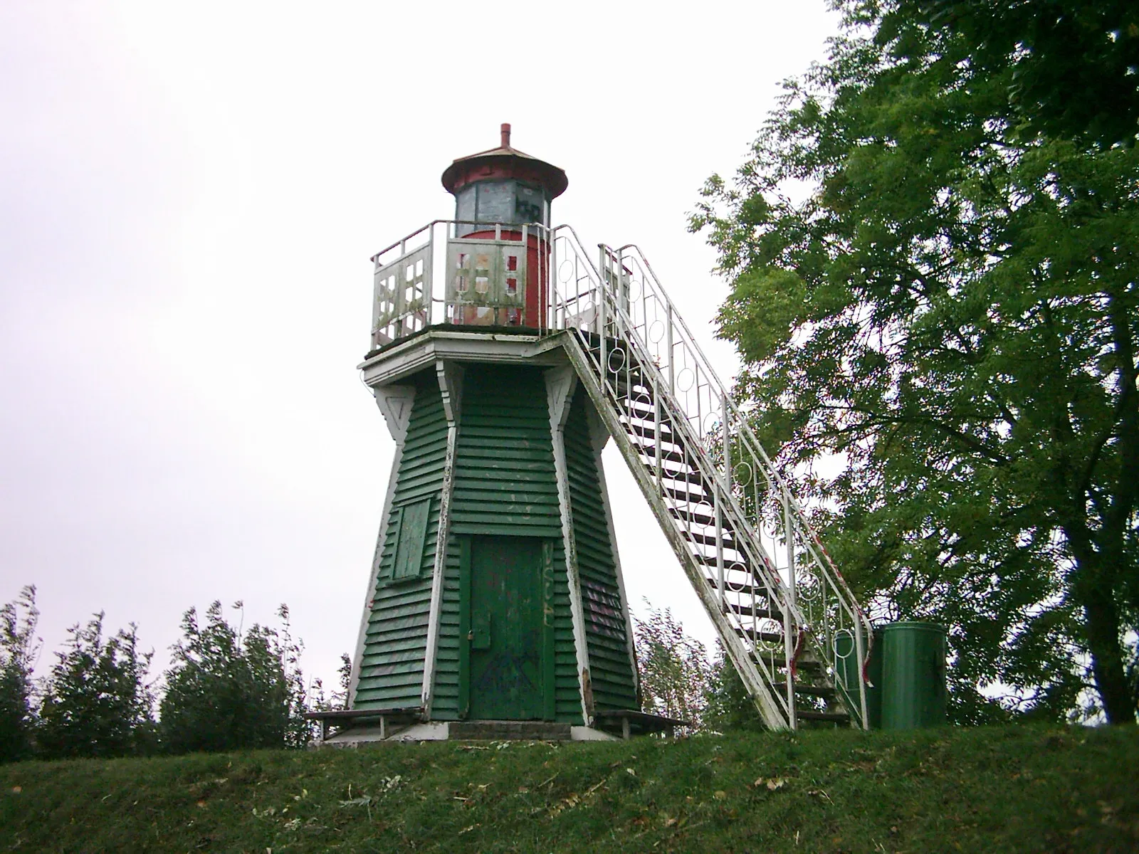
[[[652,440],[639,453],[657,500],[705,567],[720,617],[734,630],[722,637],[726,647],[746,655],[784,725],[796,726],[793,683],[810,650],[855,723],[866,726],[869,622],[746,411],[636,246],[601,245],[595,264],[568,225],[437,220],[374,256],[372,347],[429,326],[469,323],[472,305],[494,307],[493,284],[458,290],[451,269],[461,257],[456,245],[472,243],[469,235],[458,237],[460,230],[476,224],[487,245],[516,246],[511,252],[536,245],[528,286],[539,288],[543,309],[526,326],[540,335],[574,330],[629,434]],[[518,305],[513,294],[506,302]],[[489,326],[518,317],[483,313]],[[713,624],[720,627],[715,618]]]

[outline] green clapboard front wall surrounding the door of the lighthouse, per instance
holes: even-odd
[[[459,537],[536,536],[554,543],[556,718],[581,723],[577,658],[546,381],[524,367],[469,366],[456,447],[432,717],[458,720]],[[465,641],[461,641],[465,642]]]

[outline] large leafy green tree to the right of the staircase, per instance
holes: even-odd
[[[1133,722],[1139,154],[1025,134],[1021,49],[978,64],[918,6],[841,3],[708,180],[719,332],[847,580],[950,626],[956,720]]]

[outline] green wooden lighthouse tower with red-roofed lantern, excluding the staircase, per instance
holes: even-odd
[[[464,723],[589,734],[598,713],[639,699],[608,433],[564,353],[541,346],[550,203],[566,175],[511,148],[503,125],[498,148],[456,161],[443,184],[454,221],[376,271],[362,370],[396,452],[351,707],[383,712],[384,737],[454,737]],[[441,263],[445,306],[432,306]],[[442,323],[427,322],[433,307]],[[345,738],[377,729],[354,723]]]

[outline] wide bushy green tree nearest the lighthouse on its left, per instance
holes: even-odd
[[[172,647],[159,707],[165,749],[235,750],[308,742],[302,647],[289,634],[288,608],[282,605],[278,615],[282,634],[254,624],[244,637],[224,619],[219,601],[206,610],[205,626],[199,626],[195,608],[182,615],[183,638]]]

